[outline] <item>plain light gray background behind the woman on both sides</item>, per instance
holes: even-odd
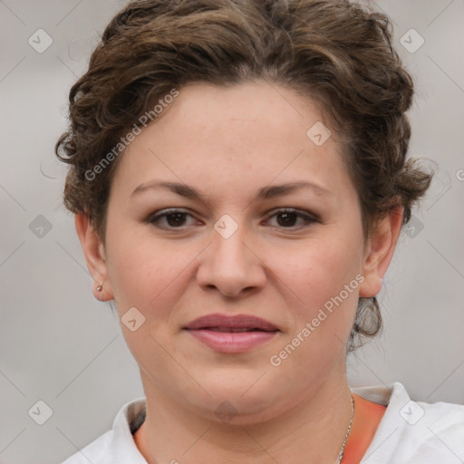
[[[69,89],[121,5],[0,1],[1,463],[60,462],[143,395],[117,318],[92,297],[73,216],[62,204],[65,170],[53,155]],[[385,279],[384,332],[350,356],[350,380],[400,381],[413,399],[464,403],[464,1],[378,5],[391,15],[395,46],[416,80],[411,155],[438,167]],[[53,43],[37,53],[28,39],[43,46],[41,28]],[[420,43],[411,28],[425,40],[414,53],[401,45],[403,35],[410,48]],[[45,418],[45,407],[28,414],[39,400],[53,411],[43,425],[35,420]]]

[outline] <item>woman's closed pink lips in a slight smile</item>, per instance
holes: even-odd
[[[247,314],[208,314],[195,319],[185,329],[220,353],[247,352],[280,332],[274,324]]]

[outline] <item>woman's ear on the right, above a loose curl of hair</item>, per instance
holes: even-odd
[[[364,280],[359,295],[370,298],[382,288],[382,277],[387,272],[391,257],[401,233],[403,208],[397,207],[385,218],[379,219],[372,228],[362,265]]]

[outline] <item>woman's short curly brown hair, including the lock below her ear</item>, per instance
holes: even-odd
[[[358,192],[365,237],[398,206],[407,223],[431,174],[407,158],[413,83],[391,40],[388,16],[348,0],[130,2],[107,25],[69,95],[69,129],[55,146],[70,165],[64,206],[85,213],[104,242],[121,156],[112,156],[98,176],[95,167],[114,154],[128,128],[189,82],[262,79],[309,97],[331,121]],[[349,350],[355,337],[362,343],[381,328],[377,299],[360,298]]]

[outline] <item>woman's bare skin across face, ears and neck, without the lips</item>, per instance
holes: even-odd
[[[94,295],[114,299],[120,316],[135,306],[145,317],[135,332],[121,328],[147,397],[135,441],[150,464],[337,458],[351,416],[345,345],[358,298],[381,290],[402,211],[378,221],[364,240],[335,132],[322,146],[306,136],[317,121],[330,128],[314,102],[282,86],[188,85],[121,155],[104,243],[84,214],[75,217]],[[168,189],[131,196],[154,179],[188,184],[205,198]],[[269,184],[299,180],[326,193],[256,199]],[[159,227],[147,221],[166,208],[188,214],[180,223],[161,218]],[[317,219],[285,222],[275,215],[282,208]],[[214,228],[224,214],[238,227],[228,238]],[[356,275],[362,284],[281,365],[271,365]],[[254,314],[281,332],[247,353],[217,353],[182,330],[211,313]],[[215,413],[223,401],[233,405],[231,420]],[[382,413],[367,417],[355,414],[353,433],[356,425],[373,435]]]

